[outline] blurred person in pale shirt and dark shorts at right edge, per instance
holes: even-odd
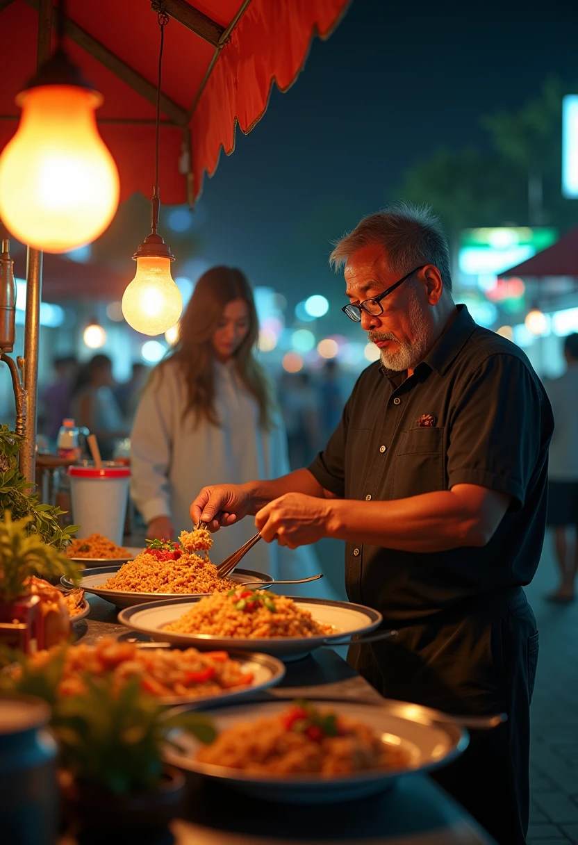
[[[574,601],[578,572],[578,334],[565,339],[564,358],[564,375],[545,385],[554,417],[548,464],[548,526],[553,527],[560,572],[559,587],[548,599],[561,603]]]

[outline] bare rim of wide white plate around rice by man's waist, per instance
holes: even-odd
[[[238,570],[236,570],[238,571]],[[281,660],[298,660],[319,646],[337,644],[354,634],[364,634],[378,627],[382,621],[381,613],[363,604],[351,602],[332,602],[322,598],[293,597],[298,608],[308,610],[318,622],[331,624],[335,634],[320,637],[269,637],[253,639],[249,637],[221,637],[210,634],[177,634],[165,630],[170,622],[175,622],[198,602],[200,597],[180,597],[150,602],[139,607],[126,608],[118,614],[118,621],[127,628],[148,634],[151,639],[176,643],[180,646],[194,646],[199,649],[243,648],[257,649],[264,654],[272,654]]]

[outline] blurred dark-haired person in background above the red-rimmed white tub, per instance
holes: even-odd
[[[95,434],[104,461],[111,460],[117,440],[128,435],[113,387],[112,361],[99,353],[80,369],[72,400],[76,424]]]

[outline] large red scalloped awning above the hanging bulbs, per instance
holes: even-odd
[[[161,200],[192,202],[221,147],[250,132],[275,81],[295,81],[315,34],[327,38],[348,0],[166,0],[161,103]],[[0,149],[14,134],[14,96],[35,73],[38,0],[4,0]],[[117,161],[121,199],[154,182],[159,27],[146,0],[68,0],[67,47],[104,95],[101,134]]]

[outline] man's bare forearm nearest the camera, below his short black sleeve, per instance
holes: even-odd
[[[328,536],[347,542],[444,552],[489,539],[479,514],[449,490],[387,502],[338,499],[327,508]]]

